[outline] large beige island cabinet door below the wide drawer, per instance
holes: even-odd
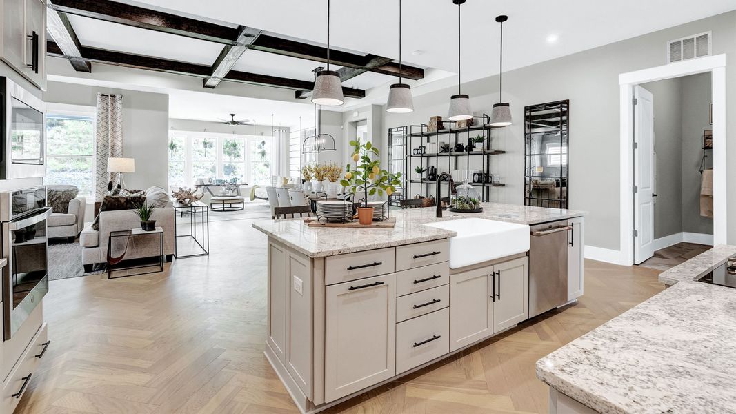
[[[396,275],[325,289],[325,402],[396,374]]]

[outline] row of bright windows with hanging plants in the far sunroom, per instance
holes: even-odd
[[[181,132],[169,137],[169,186],[194,186],[197,178],[270,185],[271,136]]]

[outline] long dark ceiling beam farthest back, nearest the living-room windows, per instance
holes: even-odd
[[[113,52],[86,46],[82,46],[81,52],[85,60],[93,63],[104,63],[106,65],[125,66],[134,69],[183,74],[202,78],[210,77],[212,72],[210,66],[179,62],[177,60],[166,60],[160,57],[132,55],[130,53]],[[60,47],[51,41],[46,44],[46,55],[67,57],[63,54]],[[253,74],[242,71],[230,71],[222,80],[297,90],[311,90],[314,88],[314,83],[306,80],[289,79],[266,74]],[[346,97],[364,98],[366,92],[362,89],[343,88],[343,94]]]

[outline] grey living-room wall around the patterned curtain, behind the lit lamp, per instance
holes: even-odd
[[[125,175],[127,186],[169,188],[169,95],[49,82],[43,100],[95,106],[98,92],[124,95],[123,155],[135,158],[135,172]]]

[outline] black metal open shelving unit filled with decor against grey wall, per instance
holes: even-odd
[[[470,170],[471,159],[480,158],[481,167],[478,168],[477,171],[486,174],[490,181],[473,182],[473,177],[470,177],[469,181],[471,185],[480,188],[483,201],[490,200],[491,190],[493,187],[506,185],[503,183],[493,183],[492,175],[490,174],[492,156],[506,153],[506,151],[494,150],[492,148],[490,131],[496,127],[489,124],[490,116],[485,113],[482,116],[475,116],[473,119],[478,121],[479,124],[470,127],[456,127],[456,122],[443,121],[442,124],[445,126],[445,129],[431,132],[428,131],[427,124],[411,125],[409,127],[410,133],[406,136],[408,139],[405,140],[405,147],[403,148],[404,157],[406,158],[406,163],[404,164],[406,174],[404,174],[403,180],[403,199],[413,198],[415,195],[434,197],[435,192],[431,190],[434,190],[436,181],[427,179],[428,172],[423,173],[421,180],[414,177],[414,167],[416,166],[421,166],[423,169],[428,169],[429,166],[435,166],[438,170],[437,173],[439,174],[441,169],[447,172],[452,172],[453,169]],[[391,130],[389,130],[389,136],[390,133]],[[484,141],[475,145],[482,145],[486,150],[455,151],[456,144],[460,143],[467,145],[469,143],[469,139],[476,135],[481,135],[484,138]],[[447,137],[447,141],[442,142],[450,145],[449,151],[443,152],[441,150],[439,143],[441,142],[442,137]],[[431,142],[433,139],[434,142]],[[412,153],[414,149],[419,147],[425,147],[425,153]],[[478,165],[477,163],[473,164]],[[443,184],[449,184],[449,182],[445,181]],[[448,194],[447,192],[443,192],[442,195],[443,197],[446,197]]]

